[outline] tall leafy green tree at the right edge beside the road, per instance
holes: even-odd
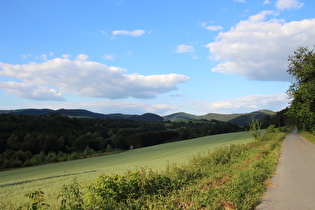
[[[299,47],[289,56],[287,72],[295,78],[287,91],[292,98],[288,114],[299,129],[315,132],[315,53]]]

